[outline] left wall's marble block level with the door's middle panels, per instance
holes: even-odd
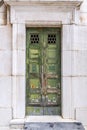
[[[11,75],[11,51],[0,51],[0,76]]]

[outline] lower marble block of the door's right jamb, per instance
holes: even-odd
[[[71,118],[72,104],[72,82],[71,77],[62,78],[62,116],[65,119]]]

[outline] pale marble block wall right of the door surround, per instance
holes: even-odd
[[[76,25],[73,66],[74,108],[76,119],[87,125],[87,0],[80,9],[80,25]]]

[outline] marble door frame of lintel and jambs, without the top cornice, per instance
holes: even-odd
[[[34,5],[36,7],[36,5]],[[37,4],[38,8],[42,9],[45,4]],[[29,8],[30,7],[30,8]],[[55,13],[55,19],[43,17],[34,21],[30,19],[31,13],[33,13],[32,4],[29,6],[16,6],[11,5],[11,23],[12,23],[12,123],[16,119],[21,119],[20,122],[26,121],[25,117],[25,88],[26,88],[26,27],[61,27],[61,88],[62,88],[62,118],[74,119],[74,99],[73,99],[73,86],[72,86],[72,62],[73,62],[73,44],[75,42],[74,29],[75,25],[71,24],[72,15],[70,10],[64,12],[65,6],[58,12],[57,5],[45,6],[45,10],[49,9],[52,13],[52,9]],[[56,7],[56,8],[55,8]],[[73,6],[72,6],[73,7]],[[37,8],[36,8],[37,9]],[[32,10],[32,11],[29,11]],[[66,8],[67,10],[67,8]],[[21,17],[25,12],[25,17]],[[35,12],[38,16],[39,10]],[[66,15],[65,15],[66,13]],[[69,17],[69,13],[70,16]],[[76,11],[74,12],[76,13]],[[77,13],[76,13],[77,14]],[[23,15],[24,16],[24,15]],[[58,17],[59,16],[59,17]],[[65,19],[66,17],[66,19]],[[78,16],[77,16],[78,17]],[[32,17],[34,19],[34,17]],[[47,18],[47,19],[45,19]],[[66,62],[67,61],[67,62]],[[20,102],[21,99],[21,102]],[[21,109],[20,109],[21,108]],[[29,117],[28,117],[29,118]],[[55,117],[52,116],[52,119]],[[39,118],[40,121],[41,118]],[[48,118],[50,120],[50,118]],[[44,117],[43,117],[44,121]],[[58,116],[57,116],[58,121]]]

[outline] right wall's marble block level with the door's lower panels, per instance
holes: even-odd
[[[87,77],[72,77],[74,107],[87,106]]]

